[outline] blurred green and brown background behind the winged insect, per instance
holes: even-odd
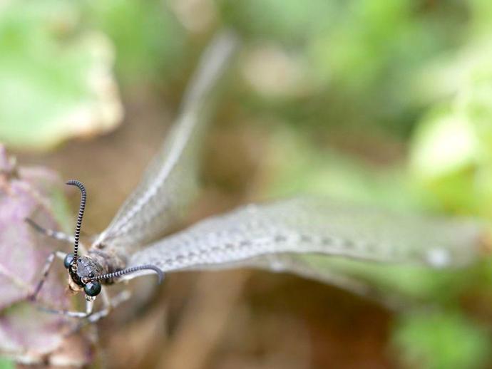
[[[0,142],[23,165],[81,180],[83,231],[101,232],[223,26],[245,45],[190,224],[298,193],[492,220],[487,0],[3,0]],[[56,207],[67,229],[78,201]],[[488,261],[327,267],[377,293],[252,270],[174,274],[158,290],[135,281],[137,296],[101,322],[91,366],[492,368]]]

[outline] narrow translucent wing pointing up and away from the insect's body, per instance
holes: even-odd
[[[225,32],[207,48],[163,147],[140,185],[95,244],[136,247],[154,239],[180,219],[195,194],[197,157],[210,95],[236,46],[235,36]]]

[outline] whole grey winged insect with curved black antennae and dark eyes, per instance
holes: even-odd
[[[171,271],[255,266],[329,280],[327,272],[314,270],[299,256],[343,256],[432,268],[463,266],[473,261],[478,251],[467,246],[478,244],[481,225],[477,222],[396,214],[312,197],[248,205],[155,241],[172,227],[180,210],[193,198],[207,95],[236,48],[237,39],[225,33],[205,51],[163,148],[140,185],[84,255],[78,253],[86,204],[81,182],[68,182],[82,194],[74,237],[32,224],[40,232],[74,245],[72,254],[52,254],[43,271],[46,276],[53,259],[59,256],[68,270],[70,288],[86,293],[85,312],[62,313],[96,321],[128,298],[116,296],[111,300],[104,284],[150,273],[158,274],[160,280]],[[43,279],[35,294],[42,285]],[[93,313],[93,301],[100,293],[105,307]]]

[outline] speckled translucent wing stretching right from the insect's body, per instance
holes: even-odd
[[[287,256],[314,253],[435,268],[462,266],[476,258],[480,236],[481,225],[471,220],[298,198],[205,219],[138,251],[130,264],[155,264],[163,271],[260,266],[322,279],[320,271]]]

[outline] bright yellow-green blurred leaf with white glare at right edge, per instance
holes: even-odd
[[[488,40],[471,41],[446,63],[429,68],[423,90],[441,100],[419,122],[410,152],[412,174],[423,189],[448,209],[488,219],[492,219],[491,45]]]

